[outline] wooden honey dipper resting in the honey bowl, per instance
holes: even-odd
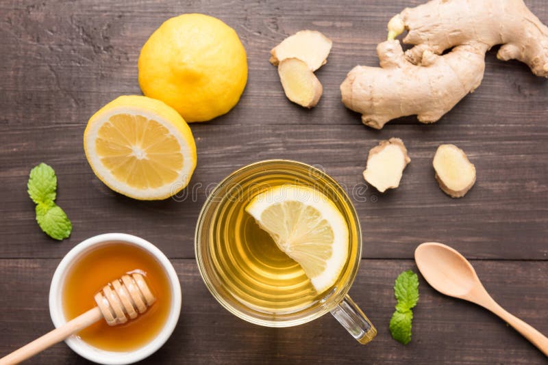
[[[140,273],[123,275],[122,278],[105,285],[95,295],[97,307],[88,310],[53,329],[53,331],[26,344],[9,355],[0,359],[0,365],[18,364],[48,347],[61,342],[65,338],[92,325],[100,319],[105,319],[108,325],[114,326],[126,323],[145,312],[156,300],[151,293],[145,278]]]

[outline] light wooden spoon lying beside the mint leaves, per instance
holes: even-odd
[[[548,356],[548,338],[499,306],[477,278],[470,262],[456,249],[443,243],[423,243],[415,249],[415,261],[434,289],[449,297],[471,301],[497,314]]]

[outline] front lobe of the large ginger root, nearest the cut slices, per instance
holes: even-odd
[[[348,73],[340,85],[343,103],[374,129],[414,114],[423,123],[436,122],[482,82],[485,50],[466,44],[443,56],[429,52],[417,66],[397,40],[387,40],[377,46],[380,68],[356,66]]]

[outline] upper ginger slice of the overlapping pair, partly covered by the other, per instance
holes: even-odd
[[[332,44],[332,40],[319,31],[297,31],[270,51],[270,62],[277,66],[284,59],[298,58],[314,72],[327,62]]]

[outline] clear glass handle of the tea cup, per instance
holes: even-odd
[[[375,326],[348,295],[345,295],[338,306],[331,311],[331,314],[360,344],[366,344],[377,336]]]

